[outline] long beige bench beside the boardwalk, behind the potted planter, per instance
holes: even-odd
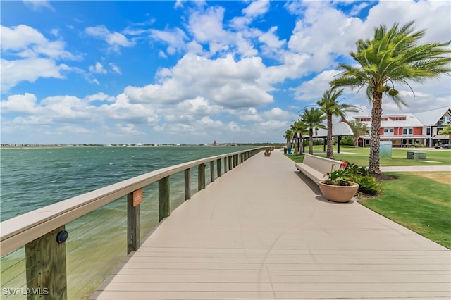
[[[341,164],[342,161],[305,154],[304,162],[295,163],[295,167],[318,185],[318,182],[327,179],[326,173],[342,168]]]

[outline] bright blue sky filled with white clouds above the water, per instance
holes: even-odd
[[[1,1],[1,143],[284,142],[381,23],[451,40],[450,1]],[[449,76],[397,87],[416,113]],[[364,91],[343,102],[369,113]]]

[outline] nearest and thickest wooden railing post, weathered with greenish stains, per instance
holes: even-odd
[[[66,242],[56,237],[65,225],[25,244],[28,300],[68,299],[66,280]]]

